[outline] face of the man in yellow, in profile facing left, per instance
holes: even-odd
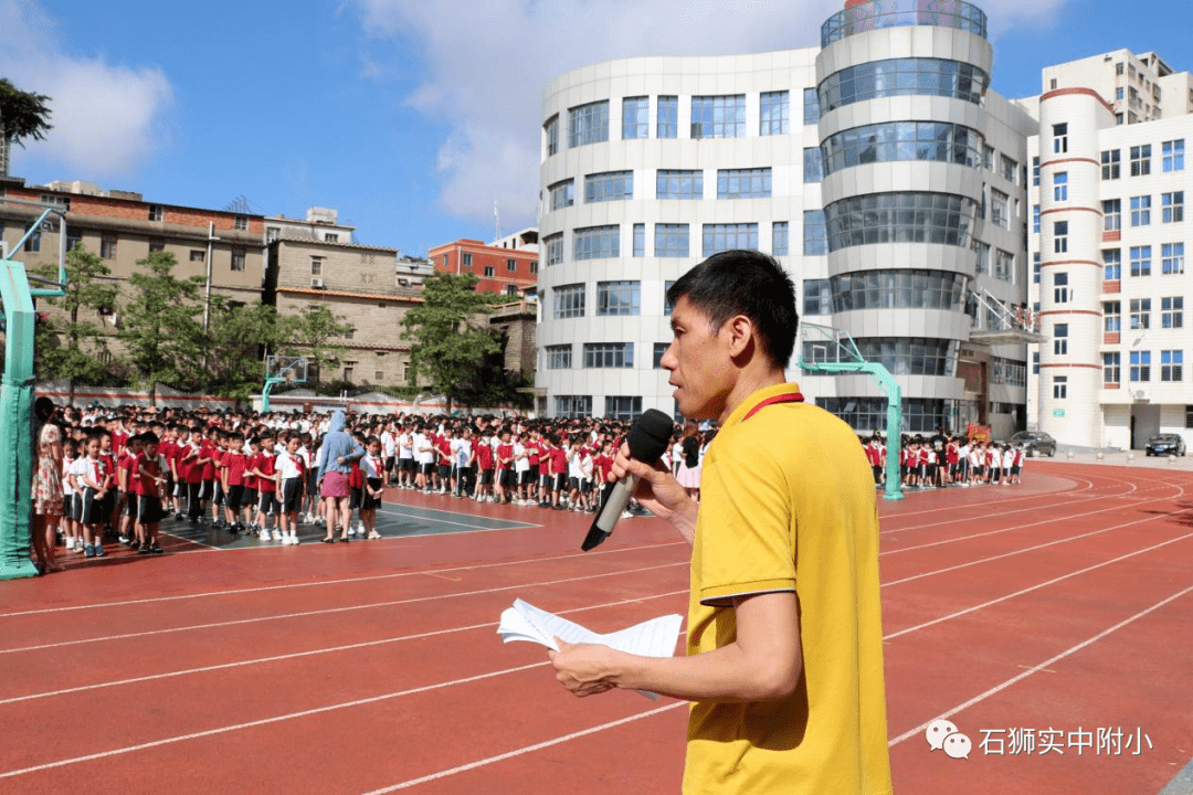
[[[674,339],[660,365],[670,371],[668,384],[679,411],[693,420],[716,420],[733,389],[728,324],[713,331],[709,317],[682,297],[672,310]]]

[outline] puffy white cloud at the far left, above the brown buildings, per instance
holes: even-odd
[[[13,151],[68,172],[62,179],[123,176],[159,148],[163,111],[173,100],[166,75],[63,51],[52,18],[36,2],[0,0],[0,75],[18,88],[47,94],[52,116],[45,141]]]

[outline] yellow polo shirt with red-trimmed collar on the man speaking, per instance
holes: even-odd
[[[878,511],[849,427],[759,390],[704,459],[687,653],[734,641],[730,598],[795,591],[803,671],[777,702],[692,704],[684,793],[891,791],[878,586]]]

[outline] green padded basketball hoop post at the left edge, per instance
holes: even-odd
[[[33,297],[25,266],[0,260],[6,325],[0,380],[0,579],[33,577],[29,558],[33,477]]]

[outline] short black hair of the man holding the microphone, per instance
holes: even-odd
[[[774,364],[787,367],[799,313],[791,277],[773,256],[744,249],[713,254],[667,291],[672,306],[680,298],[707,315],[713,329],[744,315],[754,323],[762,350]]]

